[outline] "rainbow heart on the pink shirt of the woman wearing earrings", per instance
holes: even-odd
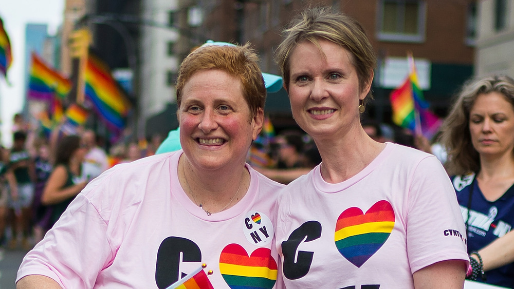
[[[344,210],[336,223],[337,250],[360,268],[386,243],[393,231],[394,219],[393,207],[386,200],[376,202],[366,214],[357,207]]]

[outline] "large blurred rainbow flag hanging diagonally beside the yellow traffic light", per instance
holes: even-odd
[[[108,128],[121,131],[125,127],[124,118],[131,109],[131,103],[114,80],[111,70],[94,53],[89,53],[86,63],[85,98]]]

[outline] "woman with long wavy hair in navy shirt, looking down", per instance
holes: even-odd
[[[514,287],[514,80],[466,82],[441,128],[466,223],[468,278]]]

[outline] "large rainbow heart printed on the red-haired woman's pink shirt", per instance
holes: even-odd
[[[232,289],[272,288],[277,282],[277,262],[269,248],[258,248],[248,257],[241,245],[229,244],[219,255],[219,272]]]

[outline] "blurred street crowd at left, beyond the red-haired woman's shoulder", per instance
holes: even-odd
[[[137,143],[106,152],[91,129],[56,134],[38,133],[14,115],[12,147],[0,147],[0,249],[31,249],[91,179],[145,156]]]

